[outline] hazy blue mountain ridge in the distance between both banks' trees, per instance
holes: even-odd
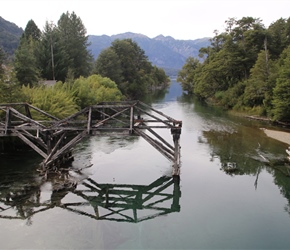
[[[149,38],[142,34],[127,32],[113,36],[90,35],[88,49],[97,58],[103,49],[111,46],[115,39],[130,38],[145,51],[149,61],[157,67],[164,68],[166,73],[174,75],[182,68],[189,56],[198,57],[199,49],[210,45],[210,38],[196,40],[176,40],[171,36],[159,35]]]

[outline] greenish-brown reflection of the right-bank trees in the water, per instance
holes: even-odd
[[[255,189],[258,187],[261,171],[266,170],[270,173],[281,194],[288,200],[285,211],[290,214],[289,160],[286,154],[275,151],[276,142],[263,137],[260,137],[258,142],[251,139],[256,137],[250,132],[256,133],[256,130],[244,129],[234,133],[209,130],[203,132],[200,142],[206,141],[210,145],[210,160],[218,158],[220,170],[225,174],[233,177],[255,176],[253,185]]]

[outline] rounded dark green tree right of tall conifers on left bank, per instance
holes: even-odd
[[[144,50],[132,39],[113,41],[96,59],[94,72],[115,81],[129,99],[142,97],[169,81],[165,72],[153,67]]]

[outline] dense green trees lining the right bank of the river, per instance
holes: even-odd
[[[257,18],[230,18],[211,45],[178,73],[184,91],[227,109],[290,121],[290,18],[267,29]]]

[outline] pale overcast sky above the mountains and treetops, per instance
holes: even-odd
[[[62,13],[75,12],[88,35],[134,32],[187,40],[214,36],[231,17],[251,16],[268,27],[290,17],[290,0],[0,0],[0,16],[25,28],[32,19],[42,30]]]

